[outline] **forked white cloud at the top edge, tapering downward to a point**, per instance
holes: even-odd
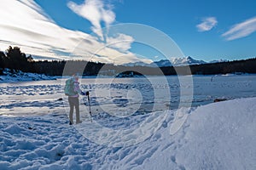
[[[91,30],[94,31],[101,40],[104,39],[101,22],[103,21],[108,29],[108,26],[115,20],[115,14],[112,10],[113,6],[104,3],[102,0],[85,0],[81,5],[69,2],[67,6],[72,9],[74,13],[89,20],[92,25]]]

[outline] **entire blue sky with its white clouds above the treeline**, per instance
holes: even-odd
[[[163,59],[159,52],[137,46],[136,37],[122,32],[115,37],[105,35],[114,25],[138,23],[171,37],[184,56],[206,61],[256,57],[254,0],[5,0],[3,3],[6,7],[3,5],[0,12],[0,30],[4,33],[0,35],[1,50],[17,45],[26,54],[70,59],[70,54],[79,53],[83,46],[87,48],[83,48],[86,55],[82,59],[91,59],[91,54],[103,44],[123,41],[102,49],[98,54],[101,57],[92,60],[132,62],[142,59],[138,54],[144,62]],[[79,43],[83,39],[88,41]]]

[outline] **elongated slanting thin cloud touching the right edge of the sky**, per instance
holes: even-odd
[[[254,31],[256,31],[256,17],[232,26],[229,31],[222,34],[222,37],[225,37],[226,40],[231,41],[241,37],[247,37]]]

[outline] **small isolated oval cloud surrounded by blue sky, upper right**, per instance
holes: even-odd
[[[207,17],[201,20],[201,24],[197,25],[198,31],[210,31],[214,26],[218,24],[215,17]]]

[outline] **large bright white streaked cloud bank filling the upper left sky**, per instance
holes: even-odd
[[[1,8],[0,50],[11,45],[20,47],[26,54],[41,56],[40,59],[90,59],[116,64],[138,59],[137,55],[129,52],[132,37],[119,34],[108,37],[108,42],[102,42],[85,32],[67,30],[58,26],[32,0],[6,0],[1,3]],[[106,25],[112,23],[111,17],[104,17],[102,20]],[[108,46],[109,42],[113,45]],[[96,52],[97,55],[94,55]]]

